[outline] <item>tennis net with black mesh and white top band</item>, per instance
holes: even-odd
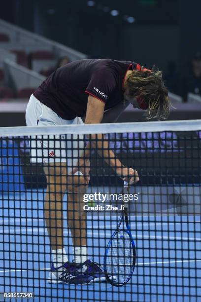
[[[200,183],[201,120],[0,128],[0,301],[201,301]],[[122,204],[136,259],[116,287],[98,264]]]

